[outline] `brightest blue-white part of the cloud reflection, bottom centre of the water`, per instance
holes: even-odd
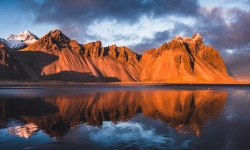
[[[106,147],[127,143],[145,148],[150,146],[160,147],[161,144],[166,142],[173,143],[172,139],[158,135],[154,129],[146,130],[139,123],[119,122],[114,124],[105,121],[102,128],[95,131],[89,134],[90,139]]]

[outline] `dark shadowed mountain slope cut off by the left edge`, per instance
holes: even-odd
[[[24,80],[28,76],[17,60],[10,54],[7,42],[0,39],[0,80]]]

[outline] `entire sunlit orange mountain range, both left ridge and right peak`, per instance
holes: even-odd
[[[32,58],[28,53],[49,56]],[[202,37],[175,37],[142,55],[127,47],[103,47],[101,41],[79,44],[54,30],[21,52],[21,60],[45,80],[121,81],[174,83],[229,83],[217,50],[204,45]]]

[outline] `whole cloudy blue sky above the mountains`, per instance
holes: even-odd
[[[0,13],[1,38],[59,29],[81,44],[101,40],[139,54],[200,33],[230,75],[250,82],[250,0],[1,0]]]

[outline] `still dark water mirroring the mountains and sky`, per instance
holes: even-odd
[[[250,149],[250,88],[1,87],[0,149]]]

